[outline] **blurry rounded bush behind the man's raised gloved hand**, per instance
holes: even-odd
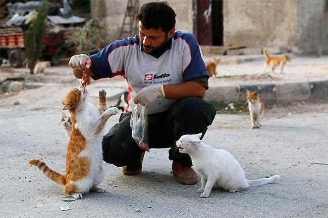
[[[90,19],[73,35],[72,41],[76,44],[79,53],[90,55],[104,47],[106,28],[96,19]]]

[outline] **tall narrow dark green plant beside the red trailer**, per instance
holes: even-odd
[[[25,55],[30,74],[33,74],[34,65],[42,54],[42,42],[46,35],[47,29],[47,14],[47,0],[43,0],[36,19],[25,31]]]

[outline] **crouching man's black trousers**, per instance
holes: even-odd
[[[171,148],[169,159],[185,166],[192,166],[187,154],[181,154],[176,141],[184,134],[202,136],[215,116],[214,107],[198,97],[176,101],[168,111],[148,115],[148,137],[150,149]],[[144,152],[132,138],[131,112],[122,113],[120,122],[114,125],[102,139],[103,160],[123,167],[133,164]]]

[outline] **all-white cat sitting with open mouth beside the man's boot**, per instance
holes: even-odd
[[[215,149],[200,139],[201,133],[182,135],[176,142],[180,153],[189,154],[193,168],[201,175],[200,197],[208,197],[212,187],[230,192],[276,182],[280,176],[248,180],[238,161],[226,150]]]

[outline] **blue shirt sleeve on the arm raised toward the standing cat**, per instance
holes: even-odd
[[[138,43],[138,41],[139,41],[138,36],[133,38],[129,37],[121,40],[116,40],[113,43],[104,47],[98,53],[91,55],[90,59],[93,68],[96,71],[94,72],[94,74],[96,74],[96,78],[101,79],[101,78],[113,77],[112,68],[110,63],[108,62],[108,55],[110,55],[116,48],[119,48],[121,46],[133,45],[135,43]]]

